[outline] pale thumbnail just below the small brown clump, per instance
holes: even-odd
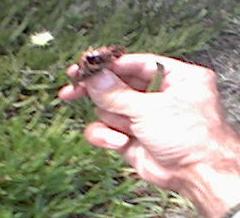
[[[91,78],[91,87],[98,91],[108,90],[114,87],[116,83],[116,76],[109,70],[103,70],[102,73]]]

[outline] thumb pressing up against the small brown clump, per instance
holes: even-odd
[[[87,79],[86,88],[93,102],[106,111],[130,117],[141,113],[144,94],[130,88],[110,70]]]

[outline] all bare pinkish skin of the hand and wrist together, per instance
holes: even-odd
[[[156,62],[165,68],[162,87],[147,93]],[[224,119],[213,71],[126,54],[59,91],[65,101],[85,95],[99,117],[84,133],[91,144],[116,150],[143,179],[188,197],[204,217],[221,217],[240,202],[240,137]]]

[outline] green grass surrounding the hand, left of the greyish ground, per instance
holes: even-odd
[[[66,67],[89,46],[114,43],[179,57],[215,37],[236,4],[145,2],[0,2],[1,218],[141,218],[191,208],[84,140],[85,125],[95,119],[89,99],[57,98],[68,82]],[[55,39],[33,46],[30,35],[43,30]]]

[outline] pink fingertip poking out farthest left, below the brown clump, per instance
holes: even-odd
[[[65,101],[75,100],[86,95],[87,90],[84,83],[79,83],[76,87],[73,85],[67,85],[61,88],[58,92],[58,97]]]

